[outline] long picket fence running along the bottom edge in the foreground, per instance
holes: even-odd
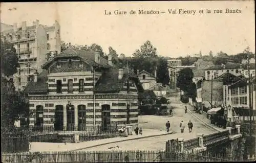
[[[172,157],[170,157],[172,156]],[[2,153],[5,162],[169,162],[229,161],[199,154],[164,151],[82,151]]]

